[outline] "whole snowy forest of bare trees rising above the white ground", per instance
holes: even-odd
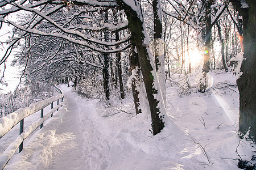
[[[184,97],[229,95],[238,109],[236,134],[254,145],[255,17],[254,0],[1,1],[0,117],[67,84],[106,108],[131,99],[129,112],[115,110],[147,115],[157,136],[177,124],[170,107]],[[11,91],[8,69],[18,70]],[[189,109],[202,109],[205,101],[197,99]],[[255,168],[251,152],[243,160],[236,150],[239,168]]]

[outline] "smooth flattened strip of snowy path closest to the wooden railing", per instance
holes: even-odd
[[[84,150],[82,147],[81,124],[79,122],[79,106],[70,95],[66,95],[67,113],[62,124],[56,130],[51,150],[52,158],[49,169],[84,169]],[[76,165],[76,168],[74,167]]]

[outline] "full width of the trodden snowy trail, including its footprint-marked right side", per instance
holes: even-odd
[[[49,169],[106,169],[109,144],[99,129],[102,122],[95,110],[98,100],[84,103],[70,91],[65,92],[67,113],[57,129]],[[60,115],[62,116],[62,115]]]

